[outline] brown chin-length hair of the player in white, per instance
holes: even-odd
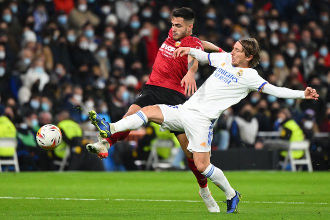
[[[245,56],[252,55],[252,59],[248,63],[248,67],[252,68],[255,67],[259,63],[260,59],[260,48],[259,43],[256,39],[252,37],[243,37],[238,40],[242,46]]]

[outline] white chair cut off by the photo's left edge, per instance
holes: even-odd
[[[13,148],[10,155],[4,154],[0,155],[0,172],[2,171],[2,165],[13,165],[16,172],[19,172],[18,158],[16,153],[17,139],[16,137],[1,137],[0,138],[0,147]]]

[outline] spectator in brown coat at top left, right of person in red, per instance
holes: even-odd
[[[70,11],[68,16],[69,26],[78,32],[86,22],[97,26],[99,18],[88,9],[87,0],[77,0],[76,6]]]

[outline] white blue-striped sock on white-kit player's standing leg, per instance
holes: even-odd
[[[227,178],[218,167],[210,163],[201,174],[209,178],[217,187],[224,191],[226,199],[231,199],[235,196],[235,190],[231,188]]]

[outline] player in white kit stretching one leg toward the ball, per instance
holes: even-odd
[[[230,53],[206,53],[190,47],[177,48],[173,58],[189,54],[199,62],[209,63],[216,69],[183,104],[143,107],[135,114],[110,123],[110,132],[136,129],[150,120],[160,124],[160,130],[185,131],[189,140],[187,148],[193,153],[197,169],[224,192],[227,213],[236,212],[240,193],[230,186],[222,170],[212,165],[209,158],[213,127],[218,117],[250,91],[280,98],[317,100],[318,97],[315,89],[311,87],[300,91],[269,84],[252,68],[258,63],[259,51],[258,42],[251,37],[239,39]]]

